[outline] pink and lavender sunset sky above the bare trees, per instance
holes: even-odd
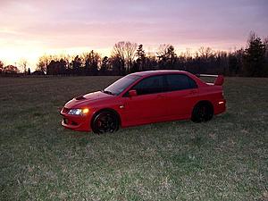
[[[43,54],[109,55],[119,41],[154,52],[232,51],[268,37],[268,0],[0,0],[0,60],[35,69]]]

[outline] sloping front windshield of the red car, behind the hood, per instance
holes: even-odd
[[[131,84],[133,84],[139,78],[140,76],[138,75],[125,76],[121,78],[120,80],[113,82],[113,84],[105,88],[103,92],[106,94],[111,94],[111,95],[119,95],[124,89],[128,88]]]

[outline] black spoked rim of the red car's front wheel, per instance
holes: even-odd
[[[97,134],[105,132],[113,132],[114,130],[117,129],[116,118],[111,113],[100,113],[96,117],[94,125]]]

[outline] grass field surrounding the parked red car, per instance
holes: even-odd
[[[227,78],[201,124],[63,129],[65,102],[116,79],[0,78],[0,200],[268,200],[268,79]]]

